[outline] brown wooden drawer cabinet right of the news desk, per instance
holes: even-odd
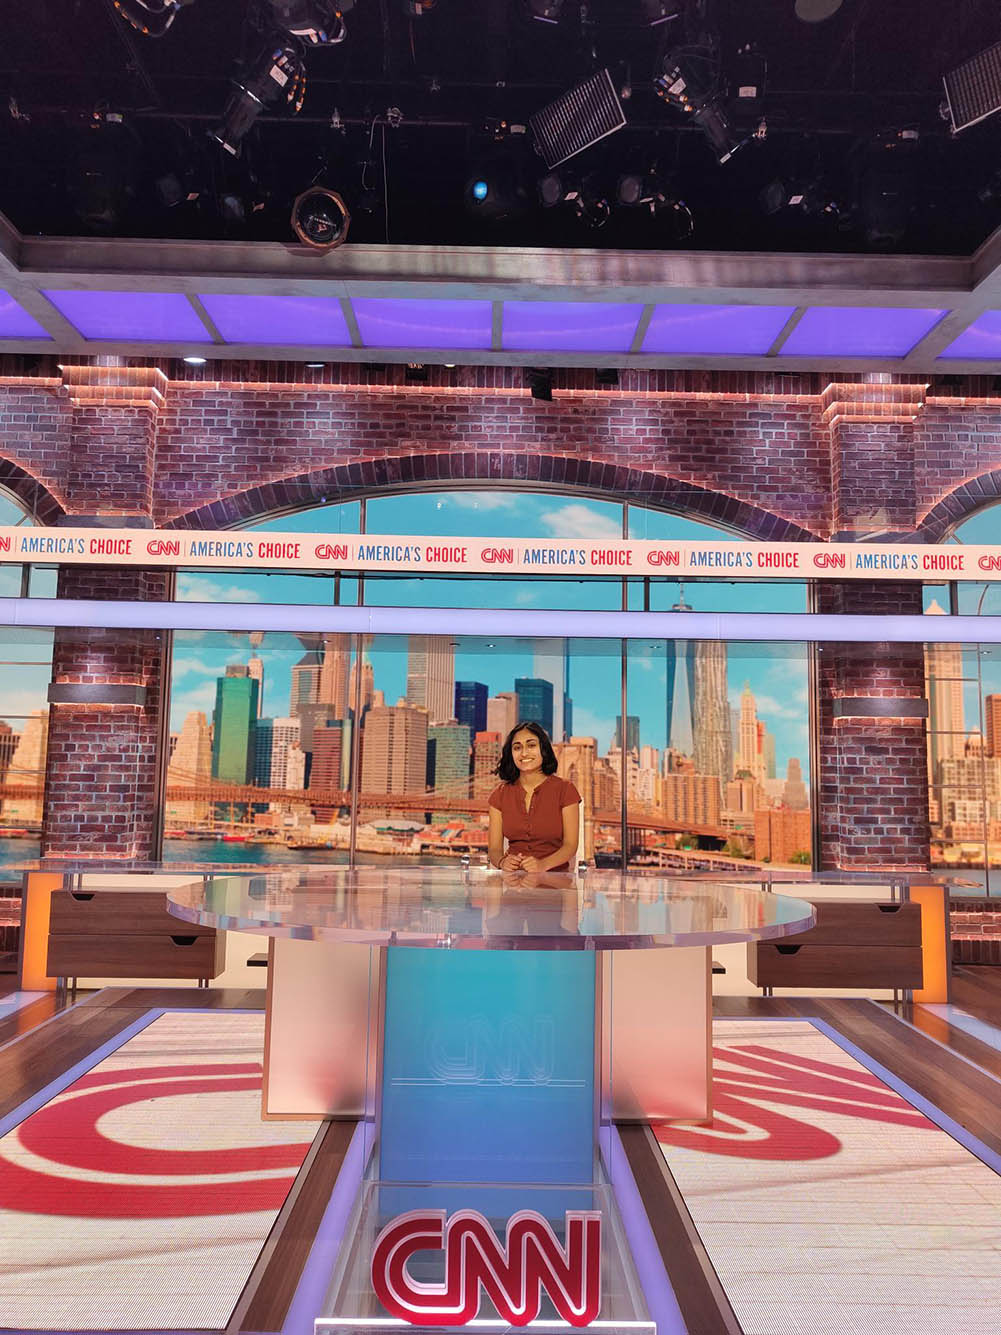
[[[817,925],[747,945],[759,988],[920,988],[921,905],[818,900]]]

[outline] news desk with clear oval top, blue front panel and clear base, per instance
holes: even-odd
[[[711,947],[814,921],[802,900],[721,882],[458,866],[208,876],[168,890],[168,908],[271,937],[263,1116],[356,1121],[354,1211],[318,1332],[400,1328],[374,1250],[387,1220],[428,1211],[475,1212],[500,1235],[531,1211],[557,1239],[575,1212],[599,1215],[589,1324],[653,1331],[615,1125],[711,1117]],[[420,1255],[406,1280],[423,1302],[446,1252]],[[510,1314],[487,1303],[476,1326],[507,1330]]]

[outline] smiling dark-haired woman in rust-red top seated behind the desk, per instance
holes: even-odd
[[[505,872],[567,870],[581,836],[581,794],[557,776],[546,729],[534,722],[513,728],[496,773],[502,782],[490,794],[490,865]]]

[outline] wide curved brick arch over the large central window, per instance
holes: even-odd
[[[599,501],[631,502],[669,510],[730,529],[747,538],[771,542],[813,542],[807,529],[781,515],[681,482],[661,473],[627,469],[595,459],[559,454],[502,454],[479,451],[358,459],[315,473],[250,487],[236,495],[175,515],[172,529],[236,529],[271,515],[318,505],[358,501],[392,491],[438,491],[482,483],[510,483],[526,491],[549,490],[590,495]]]

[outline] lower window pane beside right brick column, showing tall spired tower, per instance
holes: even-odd
[[[631,641],[625,732],[634,865],[809,865],[806,645]]]

